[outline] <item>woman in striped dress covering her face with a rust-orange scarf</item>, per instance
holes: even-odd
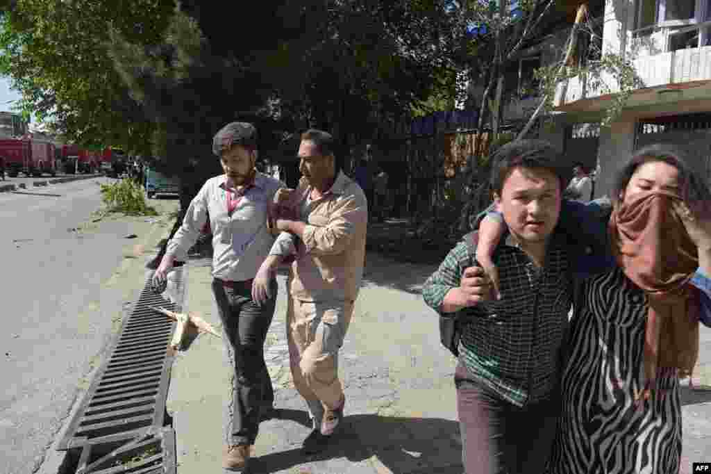
[[[696,362],[698,321],[711,307],[711,192],[699,176],[683,154],[653,145],[617,177],[617,264],[576,282],[549,474],[679,472],[679,378]],[[673,317],[662,317],[666,307]]]

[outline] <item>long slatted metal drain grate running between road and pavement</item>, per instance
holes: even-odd
[[[176,293],[181,300],[183,269],[175,270]],[[101,453],[116,448],[116,443],[120,446],[157,433],[166,424],[166,396],[174,356],[170,342],[175,322],[148,306],[179,312],[181,305],[153,293],[152,275],[150,272],[139,300],[112,339],[58,450],[92,446],[82,449],[82,457],[87,452]]]

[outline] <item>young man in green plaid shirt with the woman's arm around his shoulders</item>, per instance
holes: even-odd
[[[560,350],[572,304],[567,235],[557,228],[570,166],[547,142],[506,144],[493,157],[494,201],[510,235],[495,253],[497,297],[465,237],[422,290],[462,324],[455,372],[466,473],[482,472],[477,433],[488,421],[493,472],[542,473],[560,411]],[[478,265],[476,265],[478,266]]]

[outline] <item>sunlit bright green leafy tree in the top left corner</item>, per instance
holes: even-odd
[[[154,124],[113,68],[109,31],[153,43],[173,14],[172,0],[9,3],[0,20],[0,72],[20,91],[20,110],[73,142],[145,154]]]

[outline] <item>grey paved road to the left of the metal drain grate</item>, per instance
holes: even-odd
[[[102,283],[126,261],[127,242],[139,241],[126,236],[140,224],[82,228],[100,207],[97,183],[107,181],[0,194],[0,473],[38,470],[122,309],[124,289]]]

